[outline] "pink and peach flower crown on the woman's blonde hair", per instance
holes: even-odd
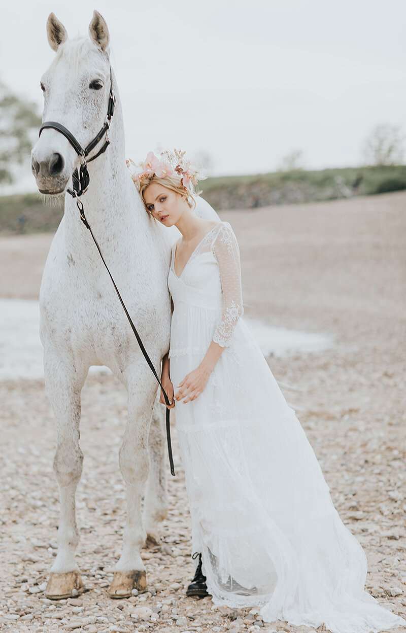
[[[174,176],[177,174],[181,177],[181,183],[189,194],[194,193],[194,187],[197,187],[198,180],[204,180],[206,176],[199,173],[196,166],[191,165],[190,161],[184,158],[186,152],[180,149],[174,149],[173,152],[168,149],[160,153],[160,158],[152,151],[148,152],[146,159],[141,163],[134,163],[131,158],[127,158],[125,163],[130,169],[130,164],[141,167],[141,171],[133,172],[131,178],[134,181],[138,191],[144,182],[148,182],[155,174],[158,178],[166,176]]]

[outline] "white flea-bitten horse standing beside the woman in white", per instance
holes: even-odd
[[[110,50],[106,22],[94,11],[89,37],[68,40],[51,13],[48,42],[56,51],[42,75],[42,122],[61,123],[85,147],[103,127],[110,91]],[[88,165],[90,185],[82,196],[86,218],[141,336],[156,373],[170,342],[167,274],[177,229],[167,230],[146,213],[125,165],[122,106],[112,72],[116,104],[110,145]],[[103,144],[91,151],[96,154]],[[32,149],[32,171],[43,194],[63,194],[79,156],[60,132],[42,130]],[[197,215],[217,218],[201,197]],[[75,491],[82,473],[79,445],[80,392],[91,365],[106,365],[125,385],[128,421],[119,451],[127,491],[127,522],[122,554],[108,589],[124,598],[146,590],[141,548],[149,536],[159,542],[158,524],[167,515],[165,407],[159,385],[139,348],[89,230],[80,221],[75,199],[65,195],[65,213],[54,235],[40,290],[41,342],[46,392],[57,423],[54,472],[60,489],[58,553],[46,596],[60,599],[84,591],[75,561],[79,532]],[[144,510],[141,516],[143,496]]]

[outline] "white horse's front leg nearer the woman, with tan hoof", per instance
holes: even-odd
[[[155,363],[155,367],[157,363]],[[124,528],[122,555],[114,568],[108,594],[111,598],[129,598],[132,589],[146,591],[146,574],[141,549],[146,531],[141,516],[141,498],[149,473],[148,434],[156,379],[148,366],[137,363],[128,372],[128,413],[119,461],[127,496],[127,522]]]

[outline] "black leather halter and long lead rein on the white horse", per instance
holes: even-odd
[[[110,120],[111,120],[111,116],[113,116],[114,113],[114,106],[115,106],[115,95],[113,92],[113,78],[111,77],[111,66],[110,66],[110,95],[109,95],[109,99],[108,99],[108,107],[107,107],[107,115],[105,118],[105,124],[103,125],[103,127],[101,128],[101,130],[99,131],[99,133],[94,137],[94,139],[89,143],[89,145],[87,145],[86,147],[82,147],[80,145],[80,143],[77,141],[77,139],[75,139],[75,137],[73,136],[73,134],[68,130],[68,128],[66,128],[64,125],[61,125],[61,123],[57,123],[56,121],[46,121],[45,123],[42,123],[41,127],[39,128],[39,136],[41,136],[41,132],[42,130],[44,130],[44,128],[54,128],[54,130],[58,130],[58,132],[61,132],[61,134],[63,134],[65,137],[67,137],[68,141],[70,142],[70,144],[72,145],[73,149],[75,149],[75,152],[79,155],[80,158],[80,168],[78,170],[78,168],[76,167],[75,170],[72,173],[72,187],[73,189],[67,189],[67,192],[74,198],[76,198],[76,204],[77,204],[77,208],[79,209],[79,213],[80,213],[80,220],[82,220],[82,222],[84,223],[84,225],[86,226],[86,229],[89,229],[91,236],[93,238],[94,244],[96,244],[96,247],[100,253],[101,259],[103,260],[103,264],[106,266],[106,270],[108,272],[108,274],[110,275],[110,279],[113,282],[115,291],[117,292],[118,295],[118,299],[120,299],[120,303],[122,304],[123,308],[124,308],[124,312],[125,315],[127,316],[129,322],[130,322],[130,326],[132,328],[132,331],[134,332],[134,334],[136,335],[136,339],[138,341],[138,344],[141,348],[141,351],[144,354],[144,357],[149,365],[149,367],[151,368],[153,374],[155,375],[156,380],[158,380],[158,383],[160,384],[160,387],[162,389],[163,392],[163,397],[165,398],[165,404],[171,404],[169,402],[169,398],[168,398],[168,394],[165,391],[165,389],[163,389],[162,383],[160,381],[160,379],[158,378],[158,374],[155,371],[155,367],[153,366],[153,363],[151,362],[151,359],[148,356],[148,353],[146,352],[146,349],[144,348],[143,345],[143,341],[141,341],[141,338],[137,332],[136,326],[134,325],[134,323],[132,322],[132,319],[128,313],[127,308],[125,307],[124,301],[121,298],[120,292],[118,292],[118,288],[117,285],[115,284],[115,281],[113,279],[113,277],[111,276],[110,270],[108,270],[108,266],[105,262],[105,258],[103,257],[103,255],[101,254],[101,250],[98,244],[98,241],[96,240],[96,237],[94,237],[91,226],[89,225],[89,222],[87,222],[86,220],[86,215],[84,212],[84,208],[83,208],[83,204],[82,201],[79,200],[79,197],[82,196],[82,194],[84,194],[87,191],[87,187],[89,187],[89,182],[90,182],[90,176],[89,176],[89,172],[87,171],[87,163],[90,163],[90,161],[94,160],[95,158],[97,158],[100,154],[103,154],[103,152],[106,151],[108,144],[110,143],[109,139],[108,139],[108,129],[110,128]],[[89,160],[86,160],[87,155],[89,154],[89,152],[91,152],[91,150],[96,147],[96,145],[98,144],[99,141],[101,141],[103,135],[106,134],[106,139],[105,139],[105,143],[103,144],[103,146],[101,147],[101,149],[99,149],[98,153],[95,154],[94,156],[92,156],[92,158],[89,158]],[[171,475],[175,475],[175,468],[174,468],[174,458],[172,456],[172,444],[170,442],[170,422],[169,422],[169,416],[170,416],[170,409],[167,406],[167,418],[166,418],[166,423],[167,423],[167,442],[168,442],[168,455],[169,455],[169,464],[170,464],[170,473]]]

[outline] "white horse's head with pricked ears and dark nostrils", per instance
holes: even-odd
[[[110,92],[110,50],[107,24],[93,12],[88,37],[68,40],[63,24],[50,13],[47,21],[49,46],[56,56],[41,77],[44,94],[42,122],[64,125],[85,147],[105,122]],[[65,191],[80,159],[68,139],[44,128],[32,149],[32,173],[42,194]]]

